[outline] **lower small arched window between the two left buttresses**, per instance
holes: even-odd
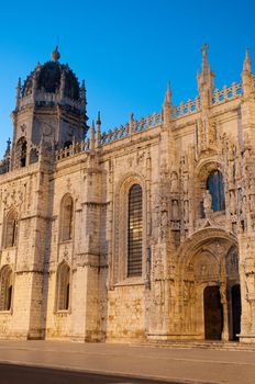
[[[57,310],[67,310],[69,308],[69,295],[70,268],[66,262],[63,262],[57,271]]]

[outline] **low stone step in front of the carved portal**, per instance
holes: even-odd
[[[241,343],[237,341],[193,341],[193,340],[148,340],[136,346],[176,348],[176,349],[211,349],[225,351],[255,351],[254,343]]]

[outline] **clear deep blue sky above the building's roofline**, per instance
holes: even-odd
[[[170,80],[175,104],[197,95],[200,47],[208,43],[215,86],[240,81],[246,46],[255,61],[255,0],[4,1],[0,9],[0,155],[12,137],[18,77],[60,61],[87,84],[88,115],[102,129],[159,112]]]

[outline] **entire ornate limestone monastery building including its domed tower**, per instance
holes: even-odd
[[[0,163],[0,338],[255,342],[255,78],[87,138],[59,63],[19,80]]]

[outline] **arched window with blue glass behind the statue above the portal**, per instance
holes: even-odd
[[[212,197],[212,210],[223,211],[225,208],[224,180],[219,170],[212,171],[207,180],[207,189]]]

